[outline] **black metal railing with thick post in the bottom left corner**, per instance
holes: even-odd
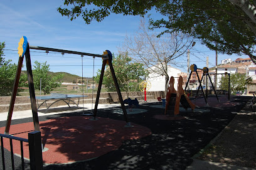
[[[13,154],[13,140],[20,141],[20,149],[21,149],[21,167],[25,169],[24,164],[24,155],[23,155],[23,142],[28,142],[29,146],[29,159],[30,159],[30,169],[38,170],[43,169],[43,157],[42,157],[42,148],[41,148],[41,132],[34,131],[28,133],[28,139],[24,139],[21,137],[15,137],[6,134],[0,134],[1,137],[1,154],[2,154],[2,163],[3,170],[6,169],[6,159],[4,156],[4,141],[3,138],[8,138],[11,148],[11,167],[14,170],[14,154]],[[9,168],[8,168],[9,169]]]

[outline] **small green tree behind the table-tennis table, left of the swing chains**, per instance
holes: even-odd
[[[58,74],[56,76],[50,76],[48,72],[50,71],[50,65],[45,63],[39,63],[35,61],[35,66],[33,69],[33,80],[35,89],[40,90],[40,79],[41,79],[41,90],[43,93],[49,94],[53,89],[60,87],[60,79],[63,78],[64,74]]]

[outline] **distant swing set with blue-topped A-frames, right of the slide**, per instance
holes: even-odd
[[[198,75],[198,72],[197,72],[198,69],[203,71],[203,75],[202,75],[201,79],[200,79],[200,77]],[[213,91],[215,93],[215,97],[217,98],[218,102],[220,102],[220,100],[218,98],[218,95],[216,93],[215,87],[213,85],[213,82],[211,81],[211,77],[210,77],[210,74],[209,74],[209,69],[207,67],[204,67],[203,69],[197,68],[197,66],[195,64],[193,64],[193,65],[190,66],[190,70],[191,70],[191,72],[189,74],[188,81],[186,82],[186,87],[184,88],[184,90],[186,91],[186,88],[188,87],[188,83],[189,83],[189,80],[191,78],[191,74],[193,72],[196,72],[196,76],[197,76],[198,82],[199,82],[199,87],[197,88],[196,96],[198,96],[198,92],[199,92],[199,90],[201,88],[201,92],[203,93],[203,97],[205,98],[205,103],[206,103],[206,105],[208,105],[207,98],[208,98],[208,78],[209,78],[210,83],[211,83],[211,87],[213,88]],[[218,73],[218,74],[223,74],[223,73]],[[212,74],[212,75],[215,75],[215,74]],[[229,78],[228,79],[229,80],[228,81],[229,82],[228,83],[228,100],[230,100],[230,74],[229,73],[225,73],[225,75],[228,75],[228,78]],[[203,77],[206,77],[206,94],[205,94],[205,92],[203,90],[203,86],[202,86]]]

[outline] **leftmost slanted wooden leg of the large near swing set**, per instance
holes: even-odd
[[[18,67],[16,70],[16,76],[15,76],[15,80],[14,80],[14,84],[13,84],[13,92],[11,95],[11,101],[10,101],[10,105],[9,105],[9,112],[8,112],[8,117],[7,117],[7,121],[6,121],[6,129],[4,130],[4,134],[7,134],[7,135],[9,135],[10,125],[11,125],[11,117],[13,116],[14,103],[15,103],[18,85],[19,85],[19,77],[21,76],[21,68],[22,68],[23,58],[24,58],[24,56],[19,57]]]

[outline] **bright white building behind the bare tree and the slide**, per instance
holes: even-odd
[[[152,66],[150,70],[156,70],[156,66]],[[152,71],[151,71],[152,72]],[[168,66],[168,75],[169,78],[172,76],[174,77],[174,88],[176,89],[178,86],[178,74],[181,73],[181,70],[174,68],[172,66]],[[148,90],[150,91],[164,91],[165,90],[165,76],[159,75],[157,73],[149,73],[149,77],[147,80],[151,83],[151,88]],[[169,83],[169,81],[168,81]]]

